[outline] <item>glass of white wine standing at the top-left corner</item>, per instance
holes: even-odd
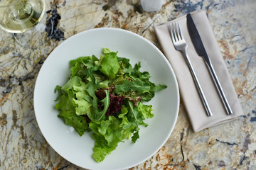
[[[45,30],[44,24],[38,24],[46,19],[45,12],[44,0],[0,0],[0,27],[13,33],[19,44],[35,48]]]

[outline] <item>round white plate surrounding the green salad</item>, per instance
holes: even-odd
[[[63,86],[70,75],[69,61],[80,56],[100,57],[102,48],[118,51],[119,57],[130,59],[132,66],[141,61],[142,71],[151,74],[155,84],[166,84],[164,91],[148,103],[154,108],[154,118],[146,120],[147,128],[141,128],[140,138],[134,144],[130,140],[120,142],[105,160],[92,159],[94,140],[90,135],[82,137],[57,117],[54,89]],[[38,126],[51,147],[61,157],[85,169],[128,169],[149,159],[171,135],[178,116],[178,84],[171,65],[161,51],[149,40],[135,33],[118,28],[96,28],[73,35],[50,53],[36,79],[34,109]]]

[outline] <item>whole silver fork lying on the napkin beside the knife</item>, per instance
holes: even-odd
[[[181,33],[181,27],[179,26],[179,23],[178,22],[170,23],[169,24],[169,30],[170,30],[170,34],[171,34],[171,40],[174,43],[175,49],[178,50],[178,51],[181,51],[183,53],[183,56],[186,59],[189,70],[190,70],[190,72],[192,74],[192,77],[193,77],[193,80],[196,84],[196,88],[197,88],[198,93],[199,93],[199,95],[201,97],[201,100],[203,102],[203,106],[206,109],[206,113],[207,113],[208,116],[212,116],[213,113],[210,110],[209,103],[206,99],[205,94],[203,93],[203,89],[201,87],[201,84],[198,81],[198,78],[196,76],[196,72],[194,71],[193,66],[191,64],[191,61],[190,61],[190,59],[188,57],[188,54],[186,52],[186,48],[188,47],[188,45],[187,45],[186,41],[183,38],[183,35]]]

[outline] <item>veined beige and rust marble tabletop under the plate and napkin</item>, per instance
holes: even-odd
[[[181,99],[169,140],[132,169],[256,169],[256,1],[163,3],[160,11],[146,12],[139,0],[46,0],[53,33],[45,32],[36,50],[18,45],[11,33],[0,30],[0,169],[80,169],[48,145],[33,111],[38,72],[63,40],[83,30],[113,27],[142,35],[161,50],[154,24],[202,10],[208,13],[244,115],[194,133]]]

